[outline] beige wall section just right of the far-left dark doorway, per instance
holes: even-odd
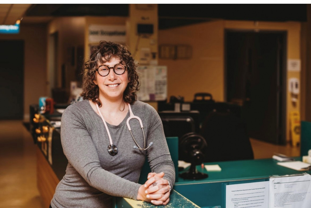
[[[24,120],[29,121],[30,104],[46,95],[46,27],[21,24],[19,34],[1,34],[0,39],[24,40]]]

